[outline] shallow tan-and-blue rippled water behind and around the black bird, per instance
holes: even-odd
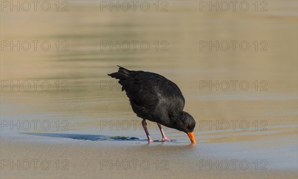
[[[1,41],[48,41],[51,49],[34,51],[32,46],[29,51],[11,51],[9,47],[1,51],[1,133],[35,132],[44,140],[54,134],[56,140],[75,134],[87,140],[83,136],[91,135],[96,139],[92,142],[101,142],[98,136],[116,140],[111,142],[124,137],[145,144],[141,119],[132,112],[117,80],[107,76],[121,65],[162,74],[180,87],[186,99],[185,111],[197,122],[197,145],[237,146],[244,142],[250,146],[255,142],[256,146],[251,146],[257,148],[255,153],[264,151],[264,146],[283,146],[281,154],[288,150],[295,154],[297,2],[266,2],[268,11],[200,11],[199,1],[180,0],[168,1],[168,11],[101,11],[96,1],[71,1],[66,12],[4,10]],[[123,50],[126,46],[120,46],[119,51],[103,47],[102,43],[110,41],[148,41],[150,49],[144,51],[145,47],[138,45],[128,51]],[[234,51],[231,47],[224,51],[223,43],[219,51],[215,47],[210,51],[200,47],[202,41],[245,41],[249,49],[235,46]],[[62,51],[64,47],[68,51]],[[39,80],[36,89],[32,80]],[[12,90],[11,81],[19,81]],[[29,90],[25,90],[25,81],[31,85]],[[49,90],[45,90],[47,84],[51,85]],[[164,131],[173,140],[171,145],[189,143],[183,132]],[[152,122],[149,133],[160,141],[159,129]],[[291,157],[297,159],[297,155]],[[275,161],[289,162],[284,159]],[[291,160],[291,164],[297,168],[297,163]]]

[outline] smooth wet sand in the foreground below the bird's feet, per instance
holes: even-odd
[[[170,142],[148,145],[146,142],[134,141],[57,140],[14,134],[1,137],[1,159],[12,160],[14,164],[20,160],[20,170],[17,170],[17,165],[9,163],[3,166],[1,178],[294,179],[298,176],[295,166],[297,158],[293,158],[297,145],[279,147],[280,144],[275,143],[280,140],[287,143],[295,138],[290,135],[285,140],[280,136],[268,140],[268,146],[264,146],[263,140],[199,142],[191,146],[188,143]],[[28,168],[25,160],[31,164],[28,170],[23,169]],[[32,162],[34,160],[36,170]],[[57,161],[60,164],[58,167]],[[48,163],[51,167],[48,167]]]

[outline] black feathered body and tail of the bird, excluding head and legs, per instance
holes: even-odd
[[[118,72],[108,75],[119,79],[134,112],[143,119],[155,121],[167,118],[173,110],[183,111],[185,100],[180,89],[159,74],[119,66]]]

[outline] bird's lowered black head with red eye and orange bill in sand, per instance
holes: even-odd
[[[193,132],[196,126],[195,119],[190,114],[184,111],[178,112],[178,114],[175,115],[174,118],[176,118],[176,120],[173,128],[187,133],[191,143],[196,143]]]

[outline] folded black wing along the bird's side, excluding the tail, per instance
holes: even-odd
[[[183,110],[185,100],[178,86],[165,77],[151,72],[131,71],[123,85],[135,104],[147,108],[158,104]]]

